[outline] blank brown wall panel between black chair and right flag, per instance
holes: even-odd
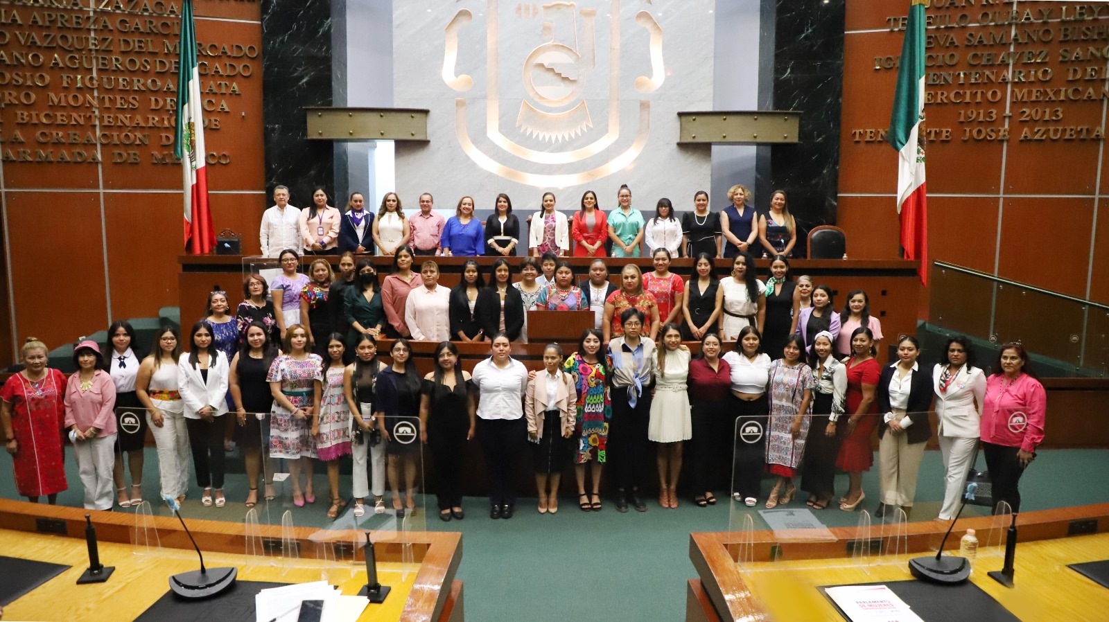
[[[847,236],[847,257],[851,259],[899,256],[901,220],[897,200],[893,196],[841,196],[836,225]]]

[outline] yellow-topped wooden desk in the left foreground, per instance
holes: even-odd
[[[85,513],[93,514],[102,563],[116,568],[106,583],[82,585],[82,598],[78,599],[74,598],[74,582],[89,564],[84,544]],[[37,532],[40,519],[60,521],[65,534]],[[171,574],[196,569],[195,553],[180,522],[165,517],[153,517],[152,521],[162,549],[147,553],[131,544],[133,514],[88,512],[0,499],[0,548],[4,554],[73,567],[4,608],[4,619],[67,622],[135,619],[169,590]],[[344,594],[357,593],[365,583],[365,570],[359,573],[357,564],[308,559],[311,551],[304,547],[297,568],[272,567],[269,558],[251,558],[263,563],[248,563],[244,554],[244,528],[237,522],[194,520],[189,527],[204,551],[206,565],[237,567],[238,579],[243,581],[299,583],[326,579],[339,585]],[[260,526],[260,532],[263,538],[281,538],[279,527]],[[301,541],[321,537],[321,532],[308,528],[298,528],[295,534]],[[346,541],[354,536],[339,531],[327,534]],[[454,580],[461,561],[460,533],[375,532],[374,542],[379,580],[394,591],[385,603],[370,605],[359,618],[360,622],[462,622],[461,582]],[[405,543],[413,544],[414,561],[407,567],[407,573],[403,572]],[[111,615],[105,616],[109,611]]]

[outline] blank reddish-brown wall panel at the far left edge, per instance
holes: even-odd
[[[33,335],[55,348],[79,335],[106,328],[100,195],[8,192],[6,203],[16,341]],[[43,227],[47,212],[64,214],[64,221]]]

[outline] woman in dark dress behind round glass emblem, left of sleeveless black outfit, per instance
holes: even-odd
[[[377,375],[374,415],[385,440],[385,470],[393,486],[393,509],[398,517],[416,511],[416,459],[419,457],[420,378],[408,339],[398,337],[389,350],[393,365]],[[400,504],[404,472],[405,504]]]

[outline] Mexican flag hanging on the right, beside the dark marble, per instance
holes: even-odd
[[[920,283],[928,284],[928,211],[924,184],[924,9],[912,0],[902,44],[894,111],[886,140],[897,150],[897,213],[906,259],[917,259]]]

